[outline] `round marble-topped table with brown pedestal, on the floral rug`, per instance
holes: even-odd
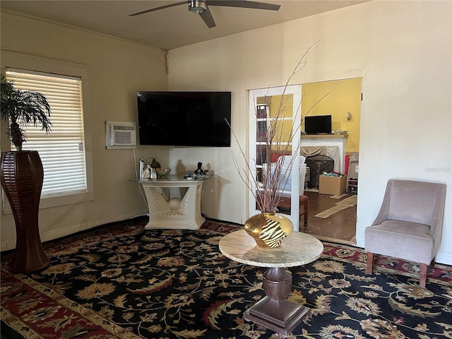
[[[292,232],[280,247],[265,249],[257,246],[245,230],[239,230],[222,237],[218,246],[222,254],[234,261],[268,267],[263,273],[266,297],[247,309],[244,319],[284,336],[291,333],[310,309],[286,300],[292,290],[292,275],[285,268],[315,261],[323,252],[321,242],[309,234]]]

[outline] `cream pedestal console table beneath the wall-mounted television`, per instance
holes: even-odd
[[[211,176],[184,179],[182,175],[168,175],[157,180],[131,180],[143,187],[149,208],[149,222],[145,230],[155,228],[198,230],[206,221],[201,215],[203,182]],[[180,198],[168,198],[163,188],[186,188]]]

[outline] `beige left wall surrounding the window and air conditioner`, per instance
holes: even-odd
[[[42,239],[131,218],[147,211],[135,177],[133,150],[105,149],[105,121],[136,121],[136,91],[165,90],[164,54],[150,47],[1,13],[1,49],[88,66],[90,110],[87,118],[93,160],[94,201],[40,211]],[[2,71],[4,58],[1,59]],[[1,125],[1,150],[8,150]],[[89,138],[89,136],[88,136]],[[167,162],[166,148],[141,146],[136,158]],[[1,250],[15,246],[12,215],[1,214]]]

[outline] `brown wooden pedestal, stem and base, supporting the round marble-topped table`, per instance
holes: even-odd
[[[244,312],[244,319],[254,321],[270,330],[287,336],[311,310],[286,299],[292,289],[292,275],[284,268],[269,268],[263,273],[266,297]]]

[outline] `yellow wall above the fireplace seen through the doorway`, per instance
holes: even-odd
[[[328,95],[326,95],[327,93]],[[326,95],[326,97],[323,97],[323,95]],[[333,132],[348,131],[345,152],[359,151],[361,78],[304,83],[302,85],[302,97],[303,118],[307,114],[310,117],[331,114],[331,129]],[[321,97],[323,99],[318,105],[315,105]],[[311,110],[309,111],[309,109]],[[350,120],[346,118],[347,113],[350,113]]]

